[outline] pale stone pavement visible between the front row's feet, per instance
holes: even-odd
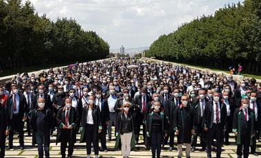
[[[56,134],[56,132],[54,132]],[[80,135],[77,135],[77,143],[76,149],[73,152],[73,157],[87,157],[87,150],[85,144],[80,144],[79,139]],[[141,138],[140,138],[141,139]],[[236,145],[235,139],[233,134],[231,133],[229,139],[231,145],[230,146],[223,146],[223,151],[221,157],[236,157]],[[141,143],[143,141],[140,141]],[[177,138],[175,137],[175,141],[177,142]],[[199,139],[198,139],[199,143]],[[115,157],[120,158],[122,157],[121,151],[115,151],[113,149],[115,145],[115,137],[110,142],[107,142],[108,152],[100,152],[100,157]],[[8,146],[8,140],[5,142],[5,146]],[[257,143],[257,153],[261,157],[261,142]],[[147,158],[151,157],[151,151],[145,150],[145,146],[143,144],[137,145],[137,151],[131,152],[131,157],[142,157]],[[207,157],[207,153],[202,152],[199,150],[200,148],[196,148],[194,153],[191,153],[191,157]],[[94,153],[91,154],[94,157]],[[216,153],[212,152],[212,156],[215,157]],[[25,133],[25,150],[20,150],[19,148],[19,139],[18,135],[14,135],[14,150],[5,150],[5,157],[26,157],[26,158],[34,158],[38,157],[37,146],[32,147],[32,137],[27,137],[27,133]],[[51,144],[50,144],[50,157],[61,157],[60,155],[60,144],[56,146],[56,137],[51,137]],[[174,146],[174,150],[172,152],[168,151],[168,146],[166,146],[163,150],[161,150],[161,157],[177,157],[177,147]],[[185,157],[185,146],[183,146],[183,157]],[[254,155],[249,155],[249,157],[256,157]]]

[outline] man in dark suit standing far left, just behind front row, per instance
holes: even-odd
[[[28,114],[28,106],[25,100],[25,95],[18,93],[18,86],[13,85],[12,95],[9,96],[6,104],[8,113],[10,114],[8,119],[10,119],[11,126],[7,148],[8,150],[13,149],[14,129],[17,129],[17,132],[19,133],[20,149],[23,150],[25,148],[23,140],[23,122],[27,120]]]

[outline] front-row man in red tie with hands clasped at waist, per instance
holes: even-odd
[[[65,158],[66,147],[68,147],[68,158],[71,158],[74,144],[76,143],[78,111],[71,106],[71,102],[71,98],[66,98],[65,106],[59,109],[56,117],[58,126],[56,145],[60,142],[60,153],[62,158]]]

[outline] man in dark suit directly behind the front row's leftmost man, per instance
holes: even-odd
[[[32,98],[31,110],[37,108],[38,98],[45,98],[45,106],[47,106],[47,108],[49,108],[49,109],[52,109],[52,102],[51,102],[50,95],[45,93],[44,91],[45,91],[45,86],[43,84],[39,85],[38,93],[36,95],[34,95]]]

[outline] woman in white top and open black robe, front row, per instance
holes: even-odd
[[[91,154],[91,143],[93,143],[95,158],[98,158],[98,133],[102,131],[102,122],[100,120],[100,106],[94,104],[93,96],[89,96],[89,104],[82,109],[82,122],[80,126],[80,143],[86,142],[87,158]]]

